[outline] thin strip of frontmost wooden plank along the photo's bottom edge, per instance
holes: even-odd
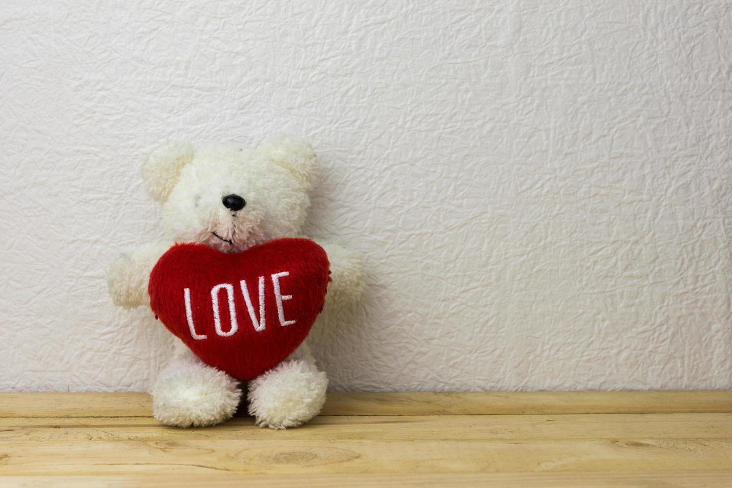
[[[3,487],[729,487],[732,470],[668,473],[433,473],[399,475],[172,475],[172,476],[5,476]]]

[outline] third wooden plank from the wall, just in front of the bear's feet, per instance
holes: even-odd
[[[328,474],[730,468],[730,439],[3,442],[0,474]]]

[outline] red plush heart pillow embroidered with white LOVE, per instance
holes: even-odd
[[[328,257],[307,239],[277,239],[236,254],[176,244],[150,273],[156,318],[206,364],[239,380],[274,367],[323,309]]]

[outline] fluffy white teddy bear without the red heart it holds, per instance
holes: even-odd
[[[162,203],[166,238],[114,260],[108,272],[114,304],[149,307],[151,270],[174,244],[239,253],[276,239],[302,237],[315,168],[313,148],[287,136],[256,149],[177,143],[154,151],[142,174],[149,195]],[[325,308],[353,302],[362,292],[358,256],[331,242],[318,244],[329,261]],[[177,427],[211,426],[231,418],[242,399],[241,382],[174,340],[173,357],[150,391],[154,417]],[[248,381],[248,410],[261,427],[297,427],[321,410],[327,386],[326,373],[302,342],[275,367]]]

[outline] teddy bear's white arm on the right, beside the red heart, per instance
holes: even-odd
[[[312,240],[325,249],[330,261],[332,282],[328,284],[326,306],[346,305],[356,301],[363,291],[364,282],[364,271],[359,255],[330,241]]]

